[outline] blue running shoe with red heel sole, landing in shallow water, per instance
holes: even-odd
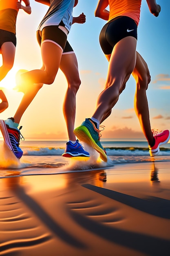
[[[67,141],[66,149],[62,154],[63,157],[90,157],[89,153],[84,150],[77,139],[76,143],[73,144],[71,141]]]

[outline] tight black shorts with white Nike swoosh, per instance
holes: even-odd
[[[113,47],[123,38],[133,36],[137,39],[137,24],[127,16],[119,16],[104,25],[99,35],[104,54],[111,54]]]

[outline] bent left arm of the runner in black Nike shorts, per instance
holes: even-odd
[[[99,0],[97,7],[95,9],[95,17],[99,17],[103,20],[108,20],[109,11],[106,10],[108,6],[108,0]]]

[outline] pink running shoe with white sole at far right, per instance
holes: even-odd
[[[162,144],[166,144],[169,141],[170,131],[164,130],[160,132],[158,130],[152,130],[152,132],[155,139],[155,145],[152,147],[149,145],[149,153],[151,157],[154,157],[160,152],[159,146],[161,146]]]

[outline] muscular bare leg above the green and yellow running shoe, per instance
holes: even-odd
[[[113,49],[108,65],[105,89],[99,94],[93,114],[93,117],[99,122],[115,106],[120,92],[135,67],[136,43],[137,40],[129,36],[120,40]]]

